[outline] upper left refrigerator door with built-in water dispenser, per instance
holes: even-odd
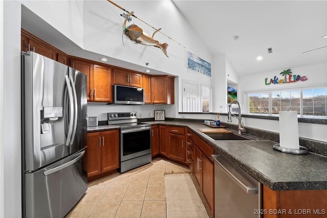
[[[34,52],[22,58],[22,125],[25,170],[69,155],[64,126],[68,67]]]

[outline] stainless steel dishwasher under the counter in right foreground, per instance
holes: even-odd
[[[220,153],[215,161],[215,217],[261,217],[261,183]]]

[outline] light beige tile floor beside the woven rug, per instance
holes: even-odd
[[[156,158],[152,163],[88,183],[66,217],[166,217],[165,172],[190,168]]]

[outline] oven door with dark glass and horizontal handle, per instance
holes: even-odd
[[[151,126],[121,130],[121,162],[151,154]]]

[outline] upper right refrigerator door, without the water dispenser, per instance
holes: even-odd
[[[86,146],[87,140],[87,98],[86,98],[86,75],[82,72],[69,68],[74,97],[74,122],[70,141],[70,154]],[[75,92],[75,94],[74,94]],[[77,118],[77,119],[76,119]]]

